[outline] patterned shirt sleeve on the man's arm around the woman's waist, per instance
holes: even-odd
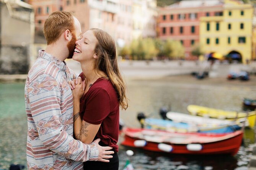
[[[65,132],[62,124],[61,92],[56,80],[47,74],[29,83],[28,99],[39,138],[50,150],[75,161],[98,159],[96,144],[83,144]]]

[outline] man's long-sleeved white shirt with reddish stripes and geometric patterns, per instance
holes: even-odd
[[[83,169],[82,162],[98,159],[96,144],[73,138],[68,81],[74,77],[65,62],[39,51],[25,84],[28,170],[78,170]]]

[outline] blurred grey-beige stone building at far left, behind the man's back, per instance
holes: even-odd
[[[33,7],[0,0],[0,74],[27,74],[34,40]]]

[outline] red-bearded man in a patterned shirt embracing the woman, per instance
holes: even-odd
[[[109,162],[111,147],[98,140],[83,144],[73,138],[73,96],[68,81],[75,74],[64,60],[72,58],[75,41],[81,35],[73,13],[56,11],[46,19],[46,50],[28,73],[25,104],[28,116],[28,170],[78,170],[87,160]]]

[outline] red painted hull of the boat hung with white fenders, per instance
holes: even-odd
[[[131,129],[128,131],[134,131],[134,133],[138,133],[141,132],[143,130],[138,130],[138,129]],[[127,130],[124,131],[125,136],[124,136],[124,141],[121,143],[124,146],[130,146],[130,147],[135,147],[135,148],[142,148],[148,151],[155,151],[155,152],[164,152],[163,150],[159,149],[159,144],[160,142],[157,141],[147,141],[147,144],[145,146],[142,147],[137,147],[135,145],[135,141],[138,140],[143,140],[143,138],[138,138],[135,136],[132,136],[130,132],[126,133]],[[175,135],[175,134],[172,134]],[[177,134],[179,135],[179,134]],[[188,135],[193,135],[191,133],[189,133]],[[211,138],[220,138],[220,136],[222,136],[221,138],[223,140],[212,140],[212,142],[185,142],[185,143],[171,143],[171,142],[161,142],[161,144],[166,144],[168,146],[171,146],[172,150],[169,151],[168,153],[170,154],[193,154],[193,155],[205,155],[205,154],[231,154],[231,155],[235,155],[241,145],[242,139],[243,139],[243,132],[242,131],[236,131],[230,134],[226,134],[229,135],[228,138],[225,137],[225,134],[223,135],[212,135],[210,136]],[[197,136],[197,135],[196,135]],[[201,137],[206,137],[209,135],[199,135]],[[180,137],[180,136],[179,136]],[[198,136],[197,136],[198,137]],[[197,151],[191,151],[188,150],[188,144],[200,144],[202,146],[201,150],[197,150]]]

